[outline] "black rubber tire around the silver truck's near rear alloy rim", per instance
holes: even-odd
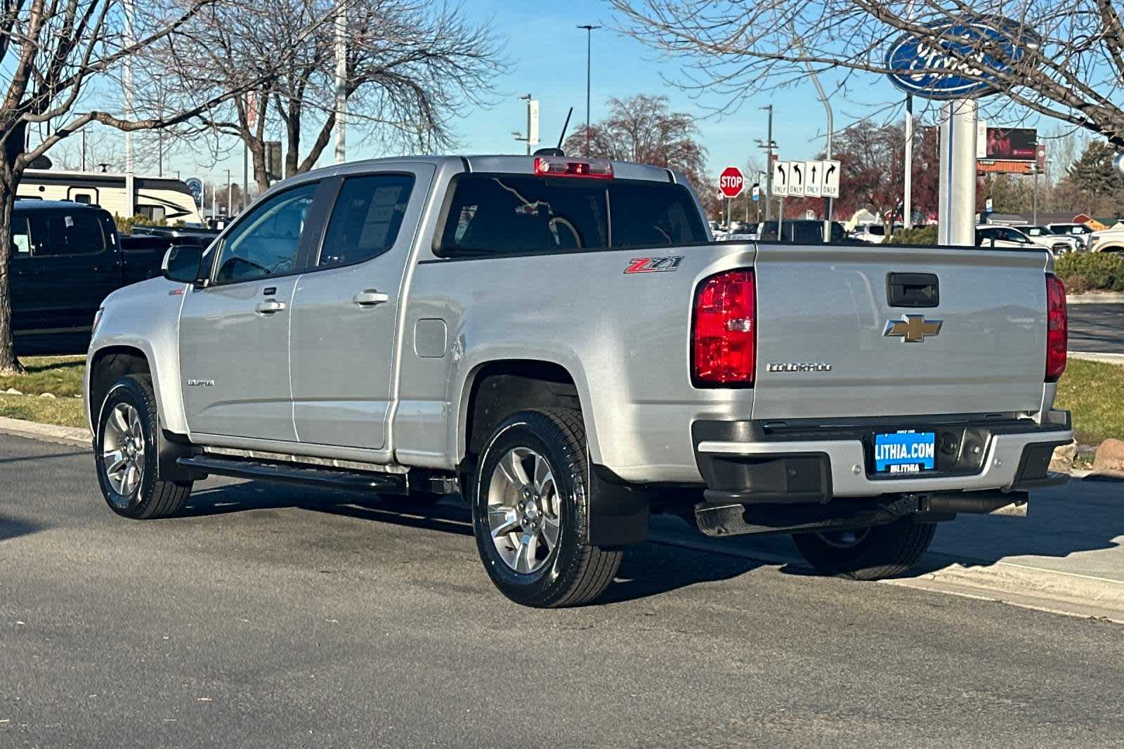
[[[488,494],[499,461],[514,449],[546,459],[556,498],[558,539],[529,572],[516,571],[492,540]],[[569,408],[523,410],[505,419],[488,437],[471,481],[472,529],[484,569],[500,593],[524,606],[580,606],[596,599],[613,581],[624,552],[590,545],[589,460],[581,412]]]

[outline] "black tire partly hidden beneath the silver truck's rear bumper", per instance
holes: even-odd
[[[925,553],[935,531],[936,523],[913,523],[907,518],[854,531],[856,540],[850,544],[819,533],[798,533],[792,541],[822,575],[880,580],[908,571]]]

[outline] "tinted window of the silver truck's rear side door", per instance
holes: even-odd
[[[414,189],[409,174],[372,174],[344,180],[328,219],[319,268],[351,265],[393,246]]]

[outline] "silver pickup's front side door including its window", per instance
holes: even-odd
[[[293,442],[289,323],[316,222],[317,182],[256,205],[212,247],[210,283],[185,291],[180,383],[192,434]]]

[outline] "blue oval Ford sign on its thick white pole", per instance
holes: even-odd
[[[976,244],[976,99],[998,90],[998,80],[968,62],[1009,70],[1023,58],[1010,39],[1014,21],[936,21],[940,38],[899,38],[886,54],[890,82],[906,93],[945,100],[941,118],[937,208],[940,244]],[[1001,60],[981,47],[1001,49]],[[909,165],[906,164],[906,169]]]

